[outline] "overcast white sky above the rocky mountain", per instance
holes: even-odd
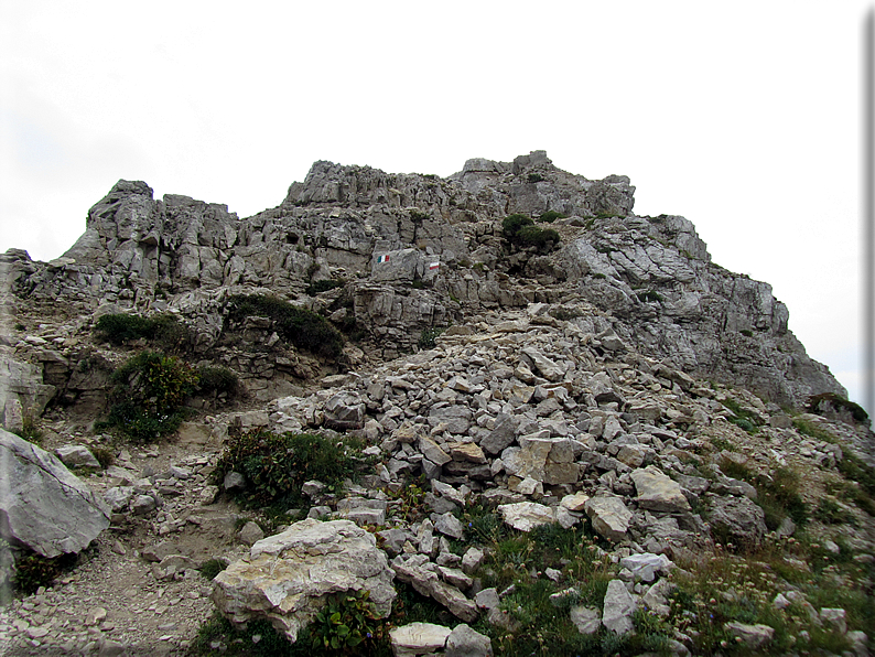
[[[449,175],[543,149],[771,283],[862,402],[869,6],[0,0],[0,252],[56,258],[122,177],[244,217],[315,160]]]

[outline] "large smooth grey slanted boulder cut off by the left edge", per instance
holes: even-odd
[[[109,508],[45,450],[0,429],[0,536],[43,557],[76,553],[109,527]]]

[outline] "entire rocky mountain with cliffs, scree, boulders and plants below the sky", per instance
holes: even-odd
[[[244,219],[119,181],[0,256],[44,448],[0,433],[7,654],[868,654],[868,419],[634,191],[542,151],[316,162]]]

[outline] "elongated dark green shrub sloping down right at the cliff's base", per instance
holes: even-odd
[[[343,352],[343,335],[325,317],[276,297],[235,294],[228,300],[227,309],[228,316],[235,321],[269,317],[277,333],[299,348],[333,358]]]

